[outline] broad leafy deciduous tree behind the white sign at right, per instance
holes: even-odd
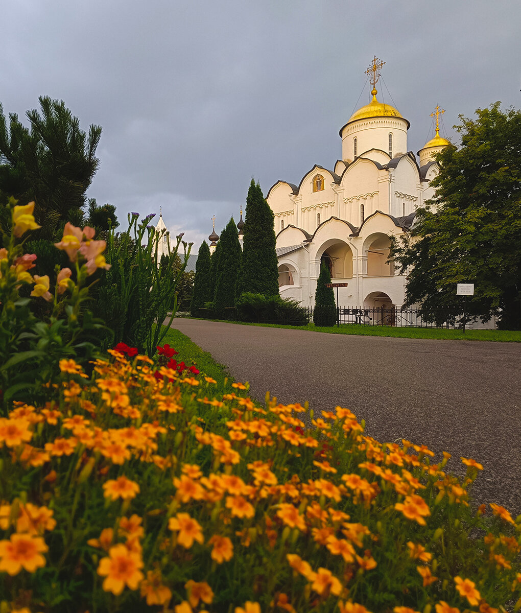
[[[406,281],[406,305],[419,303],[424,318],[441,322],[439,309],[461,311],[457,283],[474,283],[466,310],[500,327],[521,325],[521,111],[477,109],[454,126],[461,147],[438,154],[435,196],[417,211],[413,235],[394,242],[391,256]],[[438,312],[437,312],[438,311]]]

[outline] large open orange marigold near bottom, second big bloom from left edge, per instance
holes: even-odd
[[[115,545],[108,550],[108,557],[102,558],[97,567],[97,574],[106,577],[103,582],[105,592],[118,596],[125,585],[137,590],[143,579],[143,560],[139,554],[130,552],[124,545]]]

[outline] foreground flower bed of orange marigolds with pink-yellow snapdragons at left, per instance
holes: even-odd
[[[60,271],[53,297],[15,242],[34,226],[28,207],[13,206],[0,249],[2,347],[34,343],[17,354],[10,341],[0,366],[0,613],[519,609],[521,517],[471,509],[474,460],[460,481],[449,454],[434,464],[425,446],[381,444],[339,406],[310,411],[306,429],[305,407],[259,406],[169,345],[154,360],[124,343],[68,357],[85,346],[104,245],[66,226],[75,275]],[[53,301],[50,322],[34,322],[23,284]],[[14,399],[27,364],[50,372],[32,403]]]

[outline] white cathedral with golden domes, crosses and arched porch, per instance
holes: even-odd
[[[436,135],[407,149],[410,126],[376,98],[382,63],[368,69],[372,100],[340,129],[342,156],[333,170],[314,166],[299,185],[277,181],[267,202],[275,215],[280,294],[313,307],[321,262],[329,267],[341,307],[390,308],[405,301],[405,275],[389,257],[389,236],[409,232],[417,207],[433,196],[434,154],[449,144]]]

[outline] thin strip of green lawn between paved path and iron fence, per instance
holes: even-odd
[[[212,320],[223,321],[223,320]],[[227,324],[241,326],[262,326],[267,328],[287,328],[290,330],[310,330],[329,334],[354,334],[363,337],[394,338],[434,338],[438,340],[496,341],[501,343],[521,343],[520,330],[447,330],[446,328],[404,328],[392,326],[359,326],[344,324],[337,326],[278,326],[277,324],[251,324],[241,321],[227,321]]]

